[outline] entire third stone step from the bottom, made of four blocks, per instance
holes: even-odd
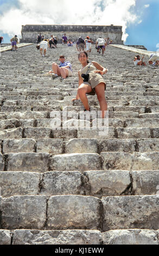
[[[94,197],[157,194],[159,170],[0,172],[1,197],[80,194]]]

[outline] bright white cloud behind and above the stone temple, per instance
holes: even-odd
[[[22,25],[61,24],[61,25],[107,25],[123,26],[123,40],[129,23],[137,22],[138,17],[130,10],[136,0],[19,0],[20,8],[15,7],[0,15],[0,28],[10,36],[21,38]],[[102,7],[97,5],[102,3]]]

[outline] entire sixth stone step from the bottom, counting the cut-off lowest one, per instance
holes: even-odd
[[[60,129],[60,127],[59,127]],[[121,128],[117,127],[97,127],[96,130],[86,130],[85,127],[80,127],[80,130],[67,129],[67,130],[52,130],[48,127],[17,127],[14,129],[7,129],[0,131],[0,139],[21,139],[21,138],[120,138],[120,139],[133,139],[133,138],[159,138],[159,129],[149,127],[134,127],[134,128]]]

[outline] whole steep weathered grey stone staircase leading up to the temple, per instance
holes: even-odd
[[[45,76],[63,53],[73,77]],[[99,136],[99,127],[53,129],[55,111],[82,121],[84,107],[71,101],[75,47],[58,45],[46,58],[35,45],[1,54],[1,245],[159,243],[158,68],[135,67],[133,56],[108,46],[103,57],[92,47],[90,61],[109,69],[109,132]],[[88,99],[97,112],[97,96]]]

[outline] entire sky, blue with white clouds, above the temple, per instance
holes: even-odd
[[[157,50],[159,0],[80,0],[80,3],[81,6],[74,0],[0,0],[0,35],[4,36],[4,42],[9,42],[15,34],[21,38],[21,27],[26,24],[113,24],[123,26],[125,45]]]

